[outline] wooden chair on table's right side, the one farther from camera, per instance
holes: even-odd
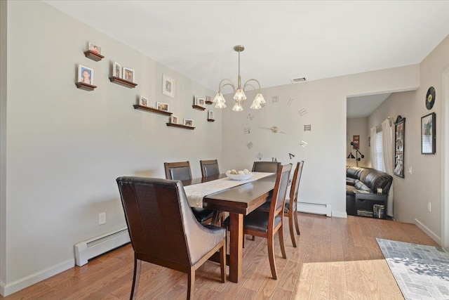
[[[297,221],[297,193],[300,188],[302,167],[304,161],[297,162],[295,172],[293,173],[293,180],[290,186],[290,196],[286,197],[286,205],[283,210],[283,216],[288,217],[288,228],[290,229],[290,237],[292,239],[293,247],[296,247],[295,230],[293,224],[295,224],[296,233],[300,235],[300,224]],[[269,211],[270,202],[265,202],[262,206],[258,207],[258,210]]]

